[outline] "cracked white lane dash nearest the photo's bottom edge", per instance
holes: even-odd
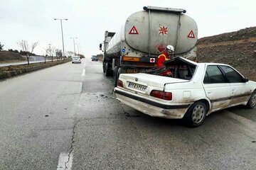
[[[61,152],[57,170],[71,170],[73,162],[73,152],[70,153],[70,159],[68,160],[68,153]]]

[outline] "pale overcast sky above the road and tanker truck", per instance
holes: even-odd
[[[0,0],[0,42],[4,50],[21,50],[19,40],[39,42],[36,54],[52,46],[62,49],[63,21],[65,51],[73,51],[73,39],[85,57],[100,53],[105,30],[116,32],[143,6],[186,9],[198,24],[198,38],[256,26],[255,0]],[[78,45],[76,45],[76,48]]]

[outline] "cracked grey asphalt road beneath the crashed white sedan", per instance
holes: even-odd
[[[0,169],[256,169],[256,109],[198,128],[122,105],[101,62],[0,81]]]

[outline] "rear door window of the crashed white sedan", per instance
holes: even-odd
[[[225,83],[225,78],[218,68],[218,66],[208,66],[206,69],[206,74],[203,79],[204,84],[219,84]]]

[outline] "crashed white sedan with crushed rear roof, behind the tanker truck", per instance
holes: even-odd
[[[175,57],[165,63],[171,77],[120,74],[117,99],[147,115],[186,120],[199,126],[206,115],[232,106],[256,105],[256,82],[249,81],[227,64],[197,63]]]

